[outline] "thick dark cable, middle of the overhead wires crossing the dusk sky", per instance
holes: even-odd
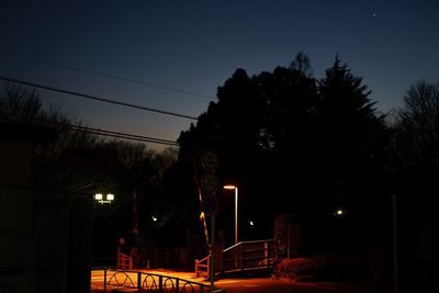
[[[117,105],[124,105],[124,106],[134,108],[134,109],[138,109],[138,110],[145,110],[145,111],[160,113],[160,114],[165,114],[165,115],[177,116],[177,117],[189,119],[189,120],[198,120],[198,117],[190,116],[190,115],[179,114],[179,113],[154,109],[154,108],[149,108],[149,106],[143,106],[143,105],[120,102],[116,100],[100,98],[100,97],[81,93],[81,92],[76,92],[76,91],[70,91],[70,90],[65,90],[65,89],[58,89],[58,88],[48,87],[48,86],[44,86],[44,84],[40,84],[40,83],[34,83],[34,82],[30,82],[30,81],[25,81],[25,80],[2,77],[2,76],[0,76],[0,80],[19,83],[19,84],[24,84],[24,86],[29,86],[29,87],[34,87],[34,88],[38,88],[38,89],[55,91],[55,92],[67,93],[67,94],[83,98],[83,99],[89,99],[89,100],[94,100],[94,101],[100,101],[100,102],[105,102],[105,103],[111,103],[111,104],[117,104]]]

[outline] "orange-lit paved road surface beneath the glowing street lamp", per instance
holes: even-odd
[[[193,272],[181,272],[172,270],[144,270],[145,272],[172,275],[182,280],[190,280],[210,284],[201,278],[195,278]],[[130,274],[136,280],[136,274]],[[97,270],[91,273],[92,292],[101,292],[103,289],[103,271]],[[290,280],[278,280],[271,278],[234,278],[222,279],[215,282],[215,289],[224,289],[227,293],[370,293],[367,283],[336,283],[336,282],[294,282]]]

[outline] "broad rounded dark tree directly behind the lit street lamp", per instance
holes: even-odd
[[[273,213],[288,210],[295,190],[306,189],[303,151],[316,103],[315,80],[306,72],[278,67],[249,77],[236,70],[218,88],[218,101],[179,137],[181,160],[196,159],[203,148],[218,151],[221,178],[238,183],[247,202],[243,217],[262,216],[271,226]]]

